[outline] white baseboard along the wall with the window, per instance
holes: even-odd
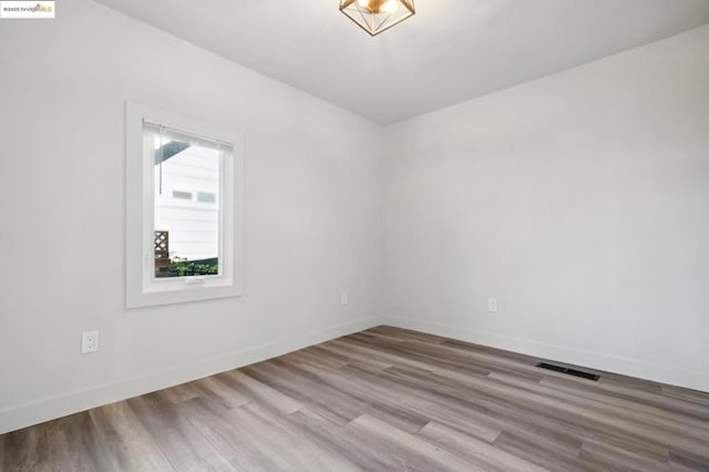
[[[255,346],[226,356],[154,372],[145,377],[106,383],[60,397],[4,408],[0,410],[0,434],[271,359],[381,324],[381,318],[360,319],[295,338]]]

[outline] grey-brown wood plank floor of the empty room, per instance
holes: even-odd
[[[709,471],[709,393],[378,327],[0,437],[0,469]]]

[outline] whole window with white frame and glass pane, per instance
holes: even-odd
[[[239,133],[127,103],[126,158],[126,306],[240,295]]]

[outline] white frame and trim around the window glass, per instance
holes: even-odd
[[[143,123],[160,124],[234,148],[222,163],[219,275],[155,277],[154,170],[145,152]],[[126,308],[238,297],[244,266],[244,136],[228,127],[203,123],[135,102],[125,107],[126,154]]]

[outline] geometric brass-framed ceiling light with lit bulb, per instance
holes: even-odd
[[[340,0],[340,11],[373,37],[417,12],[413,0]]]

